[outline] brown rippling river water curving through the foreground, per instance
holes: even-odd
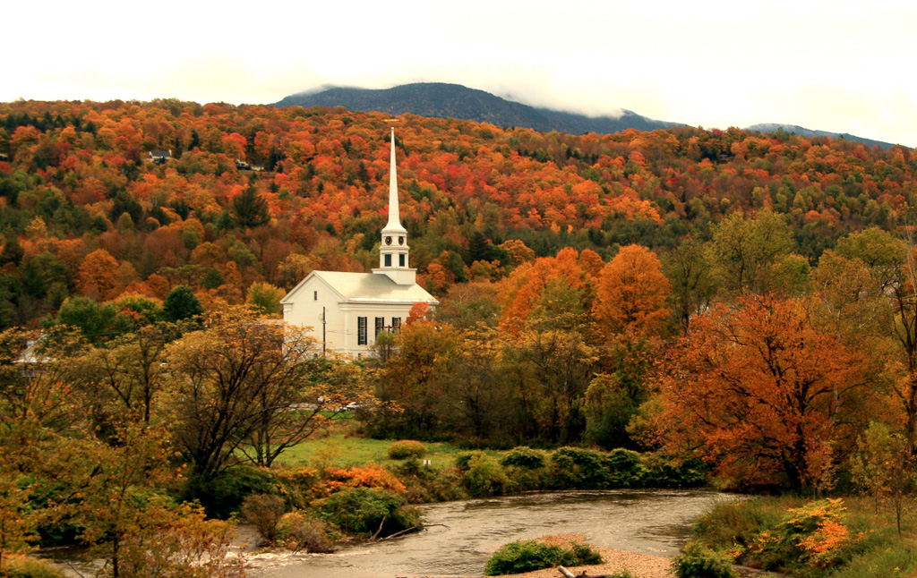
[[[425,523],[444,524],[335,554],[310,554],[255,569],[260,578],[473,576],[503,544],[547,534],[582,534],[589,543],[675,556],[691,522],[735,496],[707,490],[609,490],[524,494],[422,506]]]

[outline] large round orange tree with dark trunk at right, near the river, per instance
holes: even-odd
[[[665,443],[701,453],[740,483],[817,485],[845,434],[845,420],[833,417],[864,382],[860,367],[856,353],[812,324],[801,300],[718,305],[666,360]]]

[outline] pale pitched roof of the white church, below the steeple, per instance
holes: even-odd
[[[319,278],[334,289],[344,300],[356,303],[425,303],[439,301],[424,288],[414,285],[398,285],[387,275],[380,273],[343,273],[338,271],[313,271],[308,277],[287,293],[281,303],[293,302],[295,293],[311,278]]]

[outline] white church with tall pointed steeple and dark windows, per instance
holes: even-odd
[[[414,303],[439,304],[417,285],[408,261],[407,230],[398,213],[395,130],[389,174],[389,221],[382,229],[379,268],[372,273],[313,271],[281,300],[283,321],[310,327],[328,353],[358,356],[382,331],[397,332]]]

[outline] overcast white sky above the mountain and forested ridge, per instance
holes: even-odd
[[[705,128],[785,123],[917,147],[917,2],[19,0],[0,101],[270,104],[455,82]]]

